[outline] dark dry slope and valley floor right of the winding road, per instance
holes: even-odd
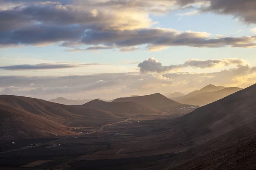
[[[254,170],[254,94],[256,85],[188,114],[137,116],[104,126],[96,133],[2,153],[0,166],[35,165],[38,170]],[[28,147],[31,142],[23,144]]]

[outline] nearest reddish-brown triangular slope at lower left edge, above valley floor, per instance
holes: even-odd
[[[3,103],[0,113],[0,139],[76,134],[65,130],[64,125]]]

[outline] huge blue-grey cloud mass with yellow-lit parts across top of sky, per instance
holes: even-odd
[[[248,18],[249,14],[255,16],[251,12],[255,3],[248,0],[241,2],[244,11],[240,9],[240,3],[233,0],[225,3],[211,0],[2,0],[0,5],[1,3],[13,6],[0,10],[1,48],[51,44],[76,47],[67,51],[115,48],[120,48],[120,51],[134,51],[137,50],[137,45],[148,45],[150,51],[171,46],[256,47],[256,36],[210,37],[206,32],[150,28],[154,24],[149,17],[151,13],[166,13],[188,6],[198,8],[200,13],[212,11],[236,15],[234,12],[238,11],[237,15],[249,22],[256,17]],[[180,15],[196,13],[192,11]],[[79,48],[82,45],[92,46]]]

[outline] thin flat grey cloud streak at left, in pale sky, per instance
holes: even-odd
[[[64,69],[64,68],[78,68],[85,65],[102,65],[100,63],[86,63],[86,64],[51,64],[51,63],[42,63],[42,64],[23,64],[23,65],[10,65],[10,66],[1,66],[2,70],[47,70],[47,69]]]

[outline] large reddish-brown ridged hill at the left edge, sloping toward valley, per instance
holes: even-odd
[[[62,105],[23,96],[0,95],[0,138],[73,134],[64,128],[64,122],[73,120],[72,122],[81,121],[90,125],[95,116],[98,117],[99,126],[102,125],[101,120],[119,118],[111,112],[94,108]]]

